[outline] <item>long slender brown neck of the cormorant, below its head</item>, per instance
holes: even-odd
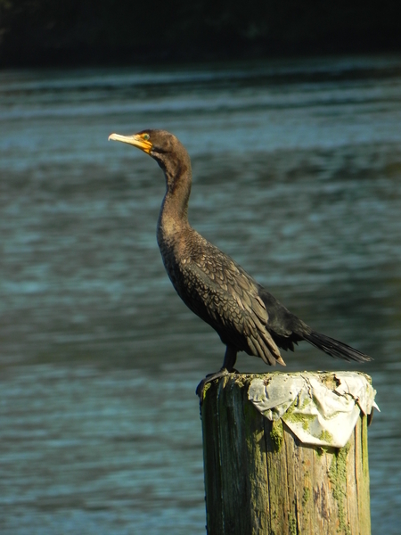
[[[161,204],[158,223],[158,242],[173,244],[189,228],[188,202],[191,194],[191,164],[178,169],[164,169],[166,194]]]

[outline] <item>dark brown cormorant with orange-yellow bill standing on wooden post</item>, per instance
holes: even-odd
[[[294,350],[307,341],[334,358],[364,362],[372,358],[346,343],[314,331],[286,309],[230,256],[206,240],[189,223],[191,158],[176,136],[145,129],[132,136],[110,134],[109,140],[131,144],[149,154],[164,172],[157,241],[168,276],[185,305],[215,329],[225,344],[223,366],[199,383],[236,372],[237,353],[262,358],[266,365],[285,366],[280,349]]]

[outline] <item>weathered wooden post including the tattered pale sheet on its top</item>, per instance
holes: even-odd
[[[209,535],[369,535],[370,377],[230,374],[201,406]]]

